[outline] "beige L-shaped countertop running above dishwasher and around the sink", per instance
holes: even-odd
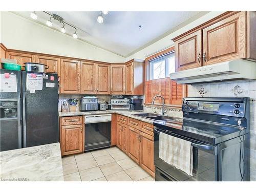
[[[127,111],[127,110],[105,110],[105,111],[90,111],[90,112],[81,112],[81,111],[59,112],[59,117],[79,116],[79,115],[101,115],[101,114],[112,114],[112,113],[124,115],[127,117],[131,117],[134,119],[138,119],[138,120],[147,122],[147,123],[151,123],[151,124],[153,124],[153,122],[154,122],[153,120],[134,115],[136,113],[147,113],[147,112],[131,112],[131,111]]]

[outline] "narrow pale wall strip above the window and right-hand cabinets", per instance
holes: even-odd
[[[209,12],[207,14],[205,14],[204,16],[198,18],[197,20],[195,20],[194,22],[191,22],[189,24],[187,24],[186,26],[178,29],[178,30],[173,30],[174,32],[170,33],[169,35],[163,37],[162,39],[156,41],[154,44],[147,46],[146,48],[134,53],[133,55],[126,57],[126,61],[131,60],[133,58],[136,59],[145,59],[146,55],[150,55],[156,51],[159,51],[161,49],[164,49],[166,47],[171,47],[174,45],[174,42],[172,41],[173,38],[181,35],[182,33],[187,32],[190,29],[193,29],[205,22],[207,22],[208,20],[224,13],[225,11],[212,11]]]

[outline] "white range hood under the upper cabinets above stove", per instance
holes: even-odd
[[[179,84],[256,79],[256,62],[244,59],[226,61],[171,73],[170,79]]]

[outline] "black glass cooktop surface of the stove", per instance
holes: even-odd
[[[239,127],[191,119],[173,119],[154,122],[154,125],[168,133],[189,137],[201,142],[218,144],[246,133]]]

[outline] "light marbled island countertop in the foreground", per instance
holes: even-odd
[[[1,181],[63,181],[59,143],[1,152],[0,166]]]

